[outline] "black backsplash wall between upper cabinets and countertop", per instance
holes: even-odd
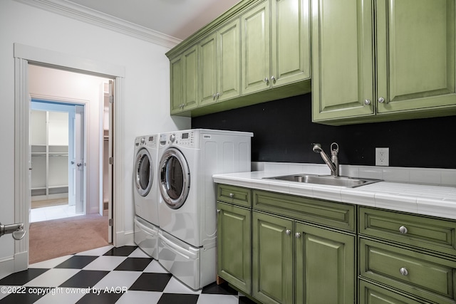
[[[375,165],[375,147],[390,148],[391,167],[456,169],[456,116],[361,125],[312,122],[311,94],[192,118],[192,128],[254,132],[253,162],[323,163],[313,142],[341,164]]]

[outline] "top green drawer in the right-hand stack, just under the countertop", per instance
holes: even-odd
[[[359,234],[456,254],[456,221],[360,207],[359,223]]]

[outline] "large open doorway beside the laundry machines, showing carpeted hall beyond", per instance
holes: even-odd
[[[109,121],[111,119],[109,107],[108,113],[105,113],[105,95],[107,95],[105,88],[106,84],[109,87],[112,80],[32,64],[28,65],[28,72],[29,93],[32,101],[29,124],[32,164],[29,254],[30,263],[33,263],[68,254],[53,246],[39,247],[50,238],[50,234],[46,231],[43,232],[42,229],[47,229],[51,224],[58,224],[61,227],[53,230],[53,237],[58,237],[56,230],[61,231],[62,234],[62,239],[55,243],[62,244],[63,241],[66,241],[70,246],[80,243],[78,241],[83,237],[86,238],[81,243],[83,247],[68,249],[74,252],[90,249],[86,246],[88,243],[92,248],[96,248],[97,243],[100,246],[112,243],[111,227],[108,224],[110,201],[105,201],[105,195],[103,195],[109,192],[108,189],[112,189],[112,177],[103,174],[106,171],[106,163],[108,163],[108,159],[105,159],[104,155],[110,156],[110,152],[105,150],[110,147],[109,126],[112,125],[112,121]],[[45,147],[47,159],[44,163],[41,159],[44,164],[41,164],[41,167],[44,168],[41,170],[41,174],[46,173],[46,183],[41,182],[41,184],[36,184],[37,179],[33,177],[40,167],[40,165],[36,165],[38,157],[43,157],[42,154],[36,153],[38,148],[43,150],[43,142],[34,142],[33,134],[36,131],[33,122],[34,116],[46,117],[44,134],[47,140]],[[106,119],[108,122],[104,121]],[[60,135],[60,137],[56,139],[55,135]],[[36,209],[33,208],[33,202],[43,201],[41,199],[61,200],[61,205],[45,207],[47,214],[44,218],[43,214],[38,216],[39,221],[45,221],[43,225],[37,223],[38,217],[34,214]],[[66,199],[66,201],[62,199]],[[63,206],[65,208],[62,208]],[[62,210],[65,211],[62,212]],[[57,219],[61,217],[67,219],[57,222]],[[76,229],[68,234],[69,230],[75,229],[76,221],[93,223],[95,218],[97,220],[100,218],[102,221],[101,226],[99,222],[96,223],[93,234],[89,233],[89,236],[95,237],[95,241],[88,239],[87,235],[78,235],[81,229]],[[65,226],[66,224],[68,226]],[[88,225],[85,224],[85,226]],[[100,227],[104,228],[100,229]],[[42,232],[37,232],[36,229],[41,229]],[[43,234],[47,235],[46,239],[39,239]],[[98,236],[98,234],[100,235]],[[75,241],[68,240],[72,236]],[[100,236],[103,240],[97,241],[97,239],[100,240]],[[48,255],[43,256],[43,251],[48,251]],[[35,258],[37,252],[39,252],[38,260]]]

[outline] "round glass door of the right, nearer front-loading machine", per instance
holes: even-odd
[[[167,206],[180,208],[190,190],[190,171],[182,152],[175,148],[165,151],[160,159],[160,193]]]

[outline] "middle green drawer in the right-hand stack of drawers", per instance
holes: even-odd
[[[359,240],[360,274],[435,303],[456,303],[456,261]]]

